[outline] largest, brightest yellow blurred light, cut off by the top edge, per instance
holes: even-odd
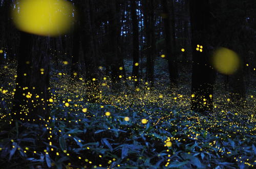
[[[63,0],[19,0],[12,10],[17,29],[42,36],[66,33],[73,23],[73,6]]]

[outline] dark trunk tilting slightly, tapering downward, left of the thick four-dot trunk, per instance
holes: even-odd
[[[174,4],[170,1],[170,11],[168,10],[168,1],[162,0],[163,20],[164,20],[164,35],[166,45],[166,55],[169,66],[169,79],[172,85],[177,84],[177,57],[176,57],[176,42],[175,42],[175,19],[174,19]]]

